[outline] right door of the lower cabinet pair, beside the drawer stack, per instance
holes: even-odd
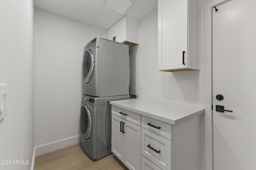
[[[140,170],[140,131],[141,128],[125,121],[124,126],[124,164],[132,170]]]

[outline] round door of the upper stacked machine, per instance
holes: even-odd
[[[83,66],[82,66],[82,74],[83,74],[85,83],[90,82],[93,72],[94,72],[94,59],[93,59],[92,51],[87,49],[86,51],[84,51]]]

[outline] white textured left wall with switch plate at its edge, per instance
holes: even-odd
[[[0,83],[8,84],[8,115],[0,121],[0,160],[28,160],[29,163],[0,164],[1,170],[28,170],[32,163],[33,11],[33,0],[0,1]]]

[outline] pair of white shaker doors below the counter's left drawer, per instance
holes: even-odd
[[[111,151],[130,170],[140,170],[141,127],[112,114]]]

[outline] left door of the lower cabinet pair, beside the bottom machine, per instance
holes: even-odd
[[[124,135],[120,131],[124,119],[112,114],[111,118],[111,151],[123,162]]]

